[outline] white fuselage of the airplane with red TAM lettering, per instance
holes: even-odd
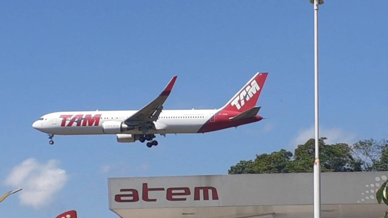
[[[197,133],[198,130],[217,112],[214,110],[163,110],[155,130],[149,134]],[[33,127],[54,135],[97,135],[105,133],[106,121],[124,121],[137,111],[67,111],[54,112],[42,116]],[[97,116],[96,116],[97,115]],[[210,120],[211,122],[212,120]],[[139,129],[128,130],[126,134],[143,134]]]

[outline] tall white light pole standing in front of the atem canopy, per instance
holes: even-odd
[[[314,162],[314,218],[320,217],[320,163],[319,163],[319,104],[318,104],[318,6],[324,0],[310,0],[314,4],[314,96],[315,96],[315,162]]]

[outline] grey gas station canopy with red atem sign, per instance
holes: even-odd
[[[388,171],[322,173],[322,218],[378,218]],[[313,174],[109,178],[109,209],[122,218],[313,217]]]

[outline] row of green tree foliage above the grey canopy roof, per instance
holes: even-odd
[[[388,142],[369,139],[353,146],[345,143],[326,144],[319,140],[319,159],[322,172],[388,170]],[[246,173],[304,173],[312,172],[315,160],[315,140],[298,145],[294,154],[285,149],[271,154],[256,155],[254,160],[240,161],[228,170],[229,174]]]

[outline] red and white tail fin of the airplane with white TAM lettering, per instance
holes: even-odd
[[[229,102],[222,107],[227,111],[244,112],[256,106],[268,73],[256,73]]]

